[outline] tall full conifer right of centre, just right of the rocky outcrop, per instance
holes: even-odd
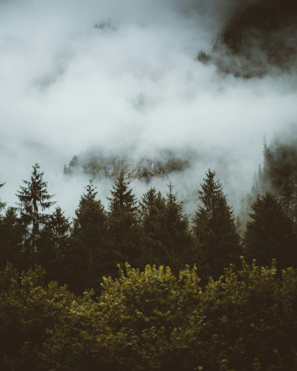
[[[240,253],[233,211],[227,204],[222,184],[215,181],[215,174],[208,170],[204,183],[200,184],[202,190],[198,190],[198,194],[202,206],[198,206],[192,220],[203,263],[209,266],[210,275],[218,277]]]

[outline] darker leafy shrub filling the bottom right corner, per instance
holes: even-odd
[[[231,266],[209,282],[188,333],[197,344],[207,344],[202,352],[196,346],[203,370],[296,368],[296,273],[289,268],[279,279],[275,261],[271,268],[259,269],[242,259],[240,270]]]

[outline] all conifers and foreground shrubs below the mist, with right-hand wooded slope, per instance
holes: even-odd
[[[263,153],[238,216],[210,169],[192,216],[120,170],[70,221],[34,164],[0,202],[1,370],[296,369],[296,135]]]

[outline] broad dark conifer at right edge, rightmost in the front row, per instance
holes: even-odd
[[[273,258],[279,267],[296,266],[296,237],[293,221],[287,217],[277,198],[270,192],[257,196],[252,204],[251,221],[244,235],[245,255],[267,266]]]

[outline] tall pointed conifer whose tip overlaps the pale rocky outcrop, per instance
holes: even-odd
[[[129,184],[124,180],[124,171],[121,170],[110,190],[111,197],[107,197],[111,249],[115,261],[122,263],[127,260],[133,263],[136,256],[133,250],[137,240],[138,206],[132,189],[128,190]]]

